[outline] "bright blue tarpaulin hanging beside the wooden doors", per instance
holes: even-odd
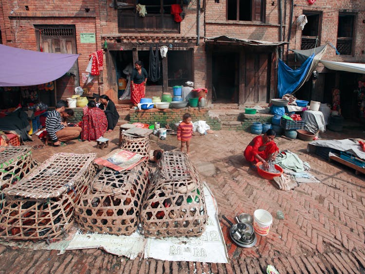
[[[306,79],[310,66],[314,59],[314,54],[310,55],[307,60],[296,70],[288,67],[279,59],[277,69],[277,91],[278,98],[282,98],[287,93],[292,93]]]

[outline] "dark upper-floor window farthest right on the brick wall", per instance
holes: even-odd
[[[337,51],[342,55],[352,54],[352,40],[354,34],[355,16],[340,14],[338,16]]]

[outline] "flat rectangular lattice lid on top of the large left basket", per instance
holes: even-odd
[[[28,198],[55,198],[73,189],[95,158],[95,153],[57,153],[17,184],[4,190],[6,195]]]

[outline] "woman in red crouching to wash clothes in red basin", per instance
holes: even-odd
[[[252,165],[251,168],[256,169],[256,163],[262,162],[264,168],[269,168],[271,160],[275,160],[279,153],[279,148],[274,142],[275,131],[269,129],[263,135],[256,136],[246,147],[243,155]]]

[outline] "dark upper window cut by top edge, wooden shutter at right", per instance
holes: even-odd
[[[227,20],[264,21],[264,0],[227,0]]]

